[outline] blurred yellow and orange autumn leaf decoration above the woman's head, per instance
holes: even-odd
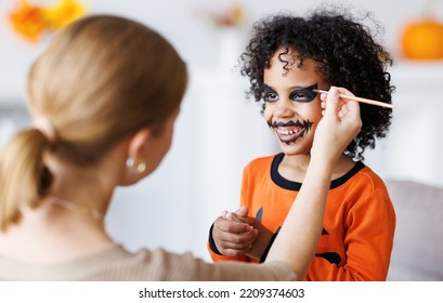
[[[86,13],[87,8],[76,0],[61,0],[51,6],[18,0],[9,14],[9,21],[19,36],[38,42],[45,34],[63,28]]]

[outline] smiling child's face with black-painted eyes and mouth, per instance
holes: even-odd
[[[294,52],[282,52],[278,50],[271,60],[270,68],[264,69],[264,119],[286,155],[309,154],[315,128],[322,118],[320,95],[311,89],[325,89],[327,85],[316,73],[315,61],[305,58],[299,68]]]

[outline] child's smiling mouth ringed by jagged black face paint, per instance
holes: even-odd
[[[279,141],[285,144],[290,144],[296,142],[299,137],[303,137],[314,123],[309,120],[303,121],[289,121],[289,122],[270,122],[268,126],[275,130]]]

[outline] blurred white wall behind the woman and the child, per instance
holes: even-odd
[[[35,0],[34,2],[51,2]],[[277,150],[253,102],[245,101],[246,79],[231,67],[242,52],[253,19],[275,12],[303,12],[323,1],[244,0],[248,21],[237,32],[217,30],[201,11],[221,11],[234,1],[217,0],[83,0],[93,13],[139,19],[175,45],[191,71],[190,88],[175,126],[173,146],[159,169],[140,184],[119,188],[106,224],[130,250],[165,247],[193,251],[208,259],[211,222],[223,209],[238,205],[243,167],[252,158]],[[337,1],[335,1],[337,2]],[[413,64],[399,54],[402,27],[421,15],[426,1],[349,1],[368,10],[386,29],[382,42],[398,58],[392,69],[398,85],[394,123],[388,139],[368,153],[366,163],[383,177],[413,179],[443,186],[443,105],[438,90],[443,63]],[[443,18],[443,1],[435,12]],[[0,143],[28,123],[23,111],[26,71],[48,39],[28,44],[5,22],[12,0],[0,2]],[[226,34],[227,32],[227,34]]]

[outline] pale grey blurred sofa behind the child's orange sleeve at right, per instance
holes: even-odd
[[[386,181],[396,213],[388,280],[443,281],[443,188]]]

